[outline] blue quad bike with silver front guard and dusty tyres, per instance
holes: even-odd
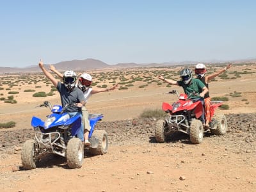
[[[57,154],[66,157],[69,168],[81,168],[84,159],[84,146],[77,132],[81,126],[81,116],[70,118],[65,113],[67,108],[74,106],[68,104],[64,108],[59,105],[52,105],[45,101],[40,107],[50,108],[51,115],[45,121],[33,116],[31,125],[35,130],[35,139],[27,140],[22,146],[21,161],[26,170],[36,168],[38,162],[45,154]],[[108,152],[108,134],[104,130],[94,130],[102,114],[89,114],[91,131],[89,134],[90,147],[87,147],[90,154],[102,155]]]

